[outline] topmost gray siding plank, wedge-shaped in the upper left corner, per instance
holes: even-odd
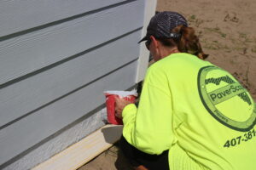
[[[0,37],[42,26],[125,0],[7,0],[0,1]]]

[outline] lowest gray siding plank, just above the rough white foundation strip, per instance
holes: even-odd
[[[55,101],[0,131],[0,165],[92,111],[105,99],[104,90],[123,90],[134,85],[137,62]]]

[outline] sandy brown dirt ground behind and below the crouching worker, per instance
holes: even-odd
[[[255,0],[158,0],[158,11],[183,14],[200,37],[208,61],[230,71],[256,99]],[[113,146],[79,170],[130,170]]]

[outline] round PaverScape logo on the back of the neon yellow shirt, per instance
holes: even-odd
[[[248,131],[256,123],[256,105],[237,80],[216,66],[201,68],[198,91],[207,111],[227,127]]]

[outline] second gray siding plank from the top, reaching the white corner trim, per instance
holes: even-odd
[[[142,8],[125,3],[0,42],[0,85],[143,26]]]

